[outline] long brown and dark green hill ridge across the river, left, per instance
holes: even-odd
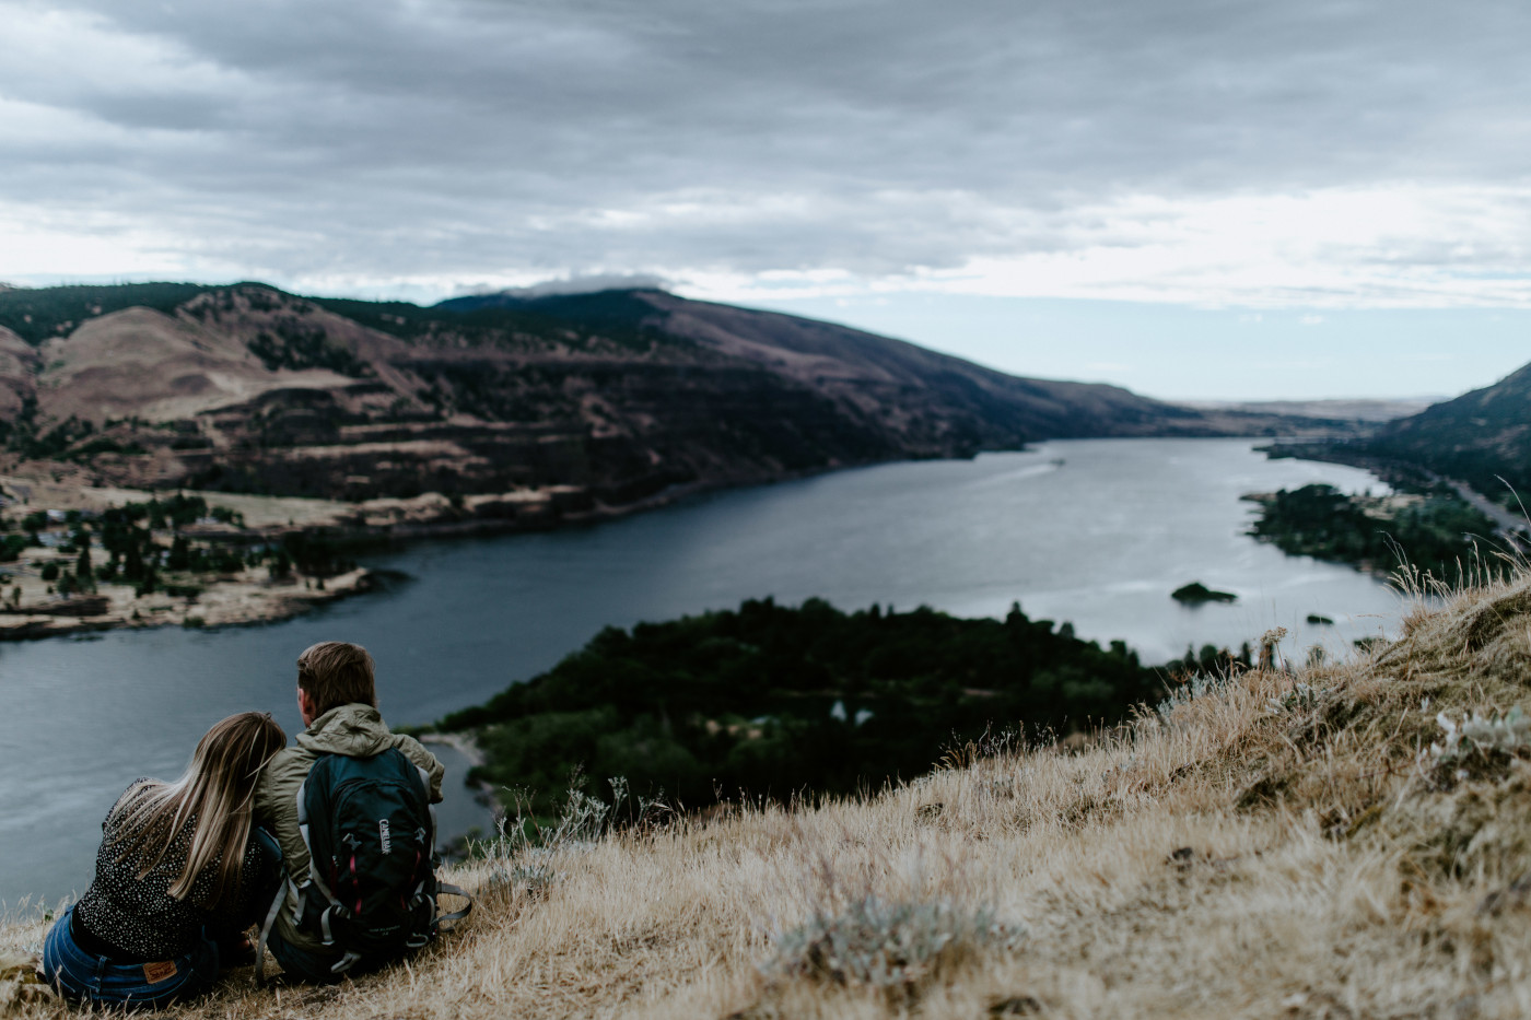
[[[1056,436],[1303,429],[1355,423],[1018,378],[655,289],[433,308],[260,283],[0,293],[5,466],[138,487],[341,499],[540,489],[574,513]]]

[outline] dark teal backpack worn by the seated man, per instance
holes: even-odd
[[[436,881],[430,784],[424,769],[397,747],[371,758],[320,755],[299,787],[297,819],[309,879],[297,887],[294,920],[341,951],[335,974],[358,960],[381,963],[412,953],[436,936],[439,922],[473,908],[470,901],[459,911],[438,914],[438,893],[467,894]],[[285,893],[277,891],[260,933],[257,980]]]

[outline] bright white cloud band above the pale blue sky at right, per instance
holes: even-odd
[[[1012,224],[1014,254],[882,279],[821,271],[766,283],[704,274],[692,289],[736,300],[897,288],[1213,306],[1531,306],[1531,188],[1133,196],[1047,216],[998,210],[994,219]],[[1442,237],[1450,239],[1445,251]]]

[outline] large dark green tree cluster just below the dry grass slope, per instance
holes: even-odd
[[[597,786],[620,775],[700,807],[741,792],[876,787],[986,731],[1112,723],[1162,692],[1162,675],[1122,642],[1101,648],[1020,606],[969,620],[764,599],[603,629],[441,726],[481,727],[482,778],[530,792],[539,812],[577,769]]]

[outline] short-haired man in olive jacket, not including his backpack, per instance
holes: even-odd
[[[309,884],[309,850],[299,825],[303,781],[320,755],[372,758],[397,747],[429,776],[430,803],[436,804],[446,767],[413,737],[389,732],[377,709],[372,655],[360,645],[320,642],[305,649],[297,659],[297,708],[308,729],[299,735],[295,747],[277,752],[256,786],[256,824],[276,836],[291,879],[279,896],[282,910],[271,925],[268,948],[289,977],[334,982],[341,977],[335,966],[344,951],[326,945],[317,931],[300,924],[299,890]],[[306,894],[318,893],[311,887]],[[369,963],[358,960],[351,973]]]

